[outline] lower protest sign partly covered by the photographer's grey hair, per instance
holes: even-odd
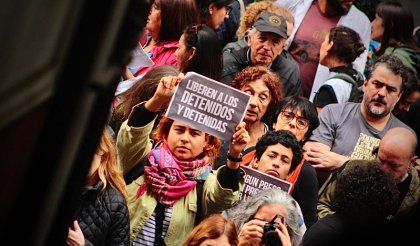
[[[270,176],[250,167],[241,167],[245,172],[244,188],[240,194],[239,200],[247,199],[248,197],[265,189],[280,189],[290,193],[292,183],[285,180]]]

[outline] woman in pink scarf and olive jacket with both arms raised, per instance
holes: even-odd
[[[181,77],[162,78],[153,97],[133,107],[118,134],[124,173],[144,167],[127,186],[133,245],[181,245],[200,214],[220,213],[239,199],[241,151],[249,141],[244,122],[232,137],[227,164],[214,171],[220,148],[214,136],[164,117],[155,144],[149,139],[157,112],[168,105]]]

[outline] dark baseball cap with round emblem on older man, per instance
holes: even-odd
[[[287,39],[287,24],[283,16],[263,11],[254,23],[259,32],[272,32]]]

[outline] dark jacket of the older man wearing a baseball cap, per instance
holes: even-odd
[[[245,67],[252,66],[248,60],[247,53],[250,50],[244,39],[228,43],[223,49],[223,71],[221,82],[229,84],[236,73]],[[278,55],[270,68],[277,73],[283,84],[284,96],[301,96],[302,87],[300,83],[299,66],[292,56],[283,51]]]

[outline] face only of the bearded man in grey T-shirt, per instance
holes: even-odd
[[[373,118],[388,115],[401,97],[401,85],[400,75],[395,75],[386,65],[379,65],[363,84],[366,113]]]

